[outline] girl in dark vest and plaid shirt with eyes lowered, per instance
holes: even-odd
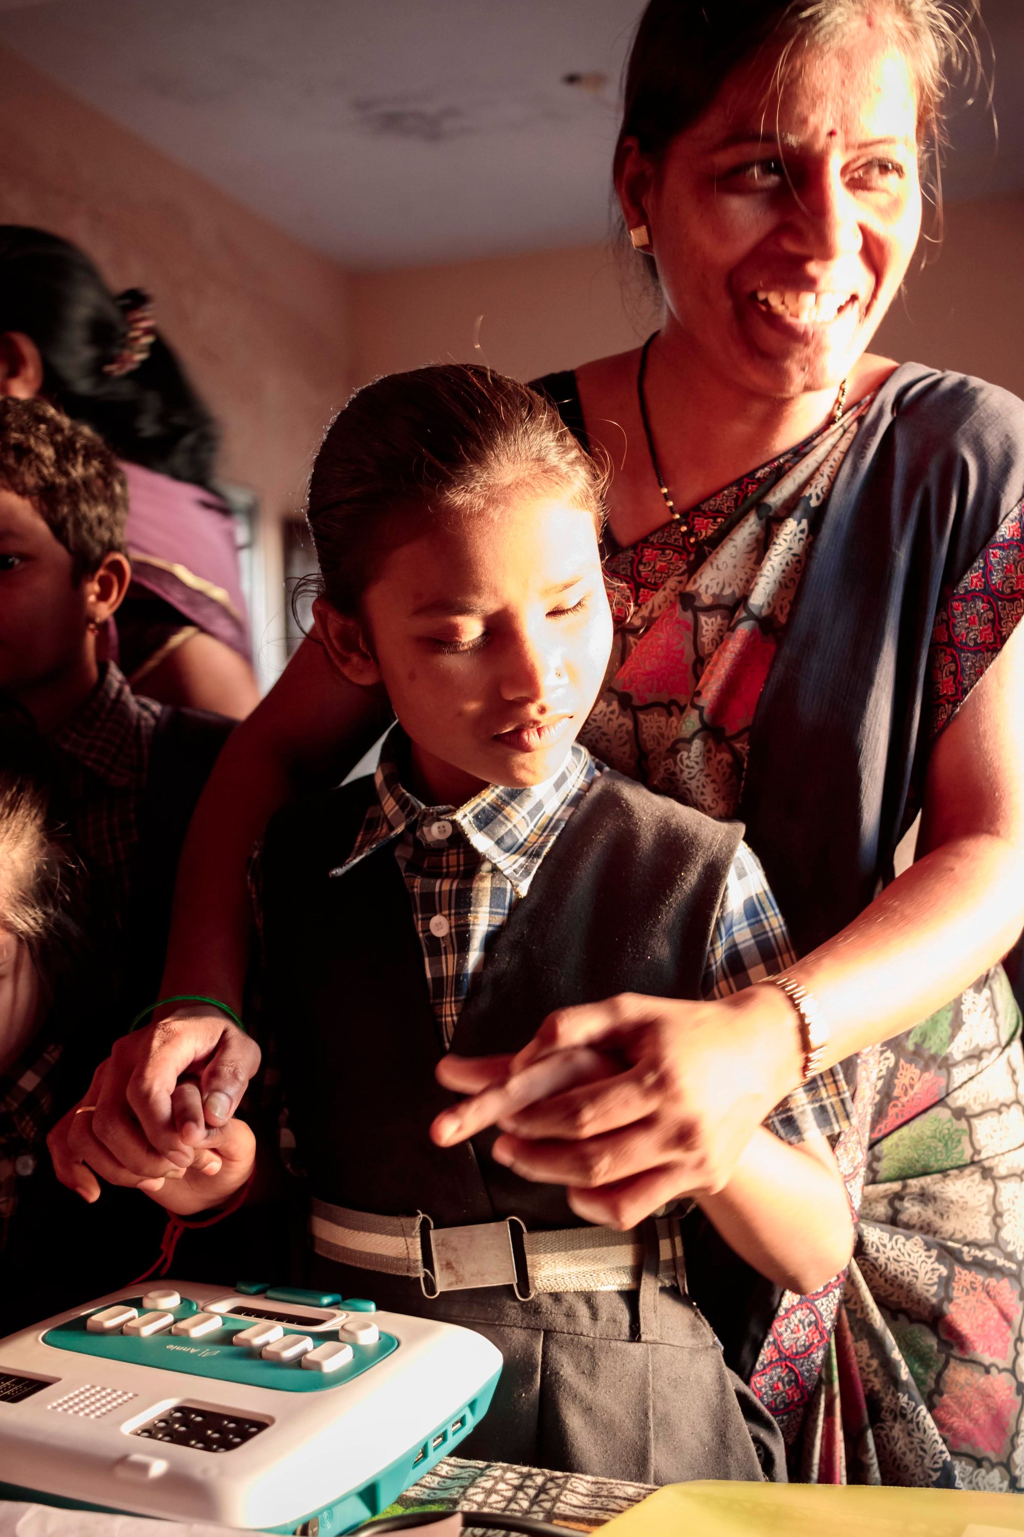
[[[527,386],[419,369],[335,420],[309,520],[316,636],[398,716],[376,775],[279,813],[259,861],[266,1027],[309,1174],[313,1283],[499,1345],[476,1456],[656,1483],[761,1465],[783,1479],[774,1422],[688,1296],[688,1219],[588,1225],[559,1187],[510,1173],[491,1136],[431,1140],[453,1104],[434,1079],[448,1047],[507,1061],[550,1010],[623,990],[743,1007],[792,959],[740,827],[576,741],[611,642],[594,461]],[[201,1116],[195,1084],[175,1105]],[[123,1180],[89,1120],[74,1117],[75,1156]],[[812,1077],[697,1197],[778,1285],[812,1290],[849,1259],[823,1134],[844,1124],[841,1074]],[[201,1170],[147,1182],[154,1199],[192,1214],[236,1197],[255,1164],[244,1122],[216,1156],[220,1173],[203,1151]]]

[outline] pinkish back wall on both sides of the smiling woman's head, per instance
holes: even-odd
[[[476,357],[531,378],[633,347],[657,320],[629,271],[628,255],[580,246],[355,277],[355,375]],[[1024,395],[1022,335],[1024,197],[950,204],[941,249],[907,281],[877,349]]]

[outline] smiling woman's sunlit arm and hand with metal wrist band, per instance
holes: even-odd
[[[917,862],[788,968],[827,1021],[824,1064],[935,1013],[1022,927],[1024,626],[935,745]],[[626,1071],[528,1105],[517,1074],[576,1047],[619,1051]],[[497,1122],[496,1157],[567,1185],[591,1220],[631,1227],[668,1199],[722,1190],[801,1064],[797,1016],[775,987],[694,1004],[625,994],[551,1014],[514,1059],[505,1102],[468,1062],[445,1057],[445,1085],[473,1097],[447,1113],[438,1139]]]

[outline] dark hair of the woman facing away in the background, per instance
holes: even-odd
[[[31,337],[43,393],[94,427],[118,458],[212,487],[216,424],[170,347],[154,338],[130,372],[104,372],[124,349],[126,314],[140,289],[114,295],[71,241],[26,224],[0,224],[0,334]]]

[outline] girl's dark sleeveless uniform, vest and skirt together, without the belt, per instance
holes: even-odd
[[[425,1211],[439,1227],[510,1214],[530,1228],[579,1227],[559,1187],[490,1157],[494,1133],[444,1150],[427,1134],[454,1096],[434,1081],[444,1048],[393,844],[329,873],[348,858],[373,795],[364,781],[292,805],[264,844],[266,999],[310,1194]],[[738,841],[737,824],[602,775],[494,936],[453,1050],[516,1051],[553,1008],[620,991],[699,998]],[[499,1346],[502,1377],[468,1457],[656,1483],[786,1476],[778,1429],[677,1288],[427,1299],[415,1280],[322,1256],[307,1257],[306,1274],[465,1323]]]

